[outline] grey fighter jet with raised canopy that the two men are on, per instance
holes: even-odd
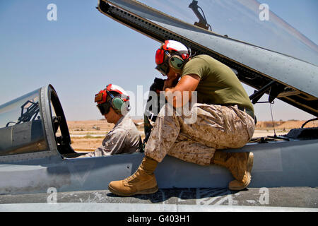
[[[105,16],[158,43],[177,40],[196,54],[208,54],[223,62],[235,71],[242,83],[255,89],[250,95],[253,104],[268,94],[269,102],[277,98],[314,117],[318,116],[316,65],[213,32],[213,23],[208,25],[205,16],[198,11],[197,1],[189,5],[199,18],[199,22],[193,25],[139,1],[100,0],[97,8]],[[6,195],[21,195],[18,197],[22,199],[24,194],[46,196],[48,189],[52,188],[65,196],[78,191],[105,191],[111,181],[133,174],[144,155],[75,158],[82,154],[71,147],[66,116],[52,85],[45,85],[1,105],[0,127],[0,194],[3,194],[2,200],[8,203],[10,198]],[[57,133],[58,130],[61,132]],[[317,187],[317,150],[316,127],[293,129],[284,136],[257,139],[243,148],[224,151],[254,153],[252,182],[249,185],[249,191],[254,191],[251,189]],[[200,189],[214,189],[215,193],[226,188],[232,180],[230,172],[222,167],[201,167],[169,156],[158,165],[155,174],[163,196],[165,191],[194,192],[196,195],[192,198],[196,199],[196,203],[202,201],[203,196],[198,196]],[[227,192],[220,194],[231,195]],[[317,189],[308,189],[308,192],[316,194],[317,198]],[[308,197],[303,191],[298,194]],[[120,201],[125,202],[119,197],[108,196],[106,202]],[[76,201],[69,195],[66,202]],[[298,203],[294,205],[298,207]],[[317,208],[314,205],[310,207]],[[138,204],[135,207],[138,208]],[[142,208],[146,210],[144,206]]]

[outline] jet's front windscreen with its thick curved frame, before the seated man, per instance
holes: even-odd
[[[57,92],[47,85],[0,106],[0,157],[58,151],[76,157]]]

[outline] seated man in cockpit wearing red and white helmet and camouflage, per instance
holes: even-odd
[[[100,113],[114,128],[107,133],[102,145],[92,153],[81,157],[100,157],[122,153],[136,153],[142,150],[141,136],[128,112],[129,96],[119,85],[107,85],[95,95]]]

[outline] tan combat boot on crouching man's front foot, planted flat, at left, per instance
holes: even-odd
[[[122,181],[110,182],[108,189],[118,196],[133,196],[136,194],[153,194],[158,191],[155,179],[155,167],[158,162],[151,157],[143,157],[143,162],[137,171]]]

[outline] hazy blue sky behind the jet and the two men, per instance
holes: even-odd
[[[318,42],[317,0],[260,2]],[[57,5],[57,21],[47,20],[49,4]],[[66,119],[100,119],[94,95],[108,83],[140,99],[155,77],[163,78],[154,69],[160,44],[104,16],[97,4],[98,0],[0,1],[0,105],[52,84]],[[245,88],[251,95],[253,90]],[[259,121],[271,119],[269,104],[254,107]],[[274,120],[313,117],[279,100],[272,107]]]

